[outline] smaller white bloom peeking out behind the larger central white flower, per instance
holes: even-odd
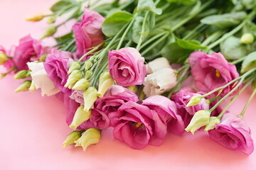
[[[149,64],[146,64],[146,74],[152,74],[157,70],[163,69],[163,68],[171,69],[171,65],[169,64],[169,61],[165,57],[157,58],[149,62]]]

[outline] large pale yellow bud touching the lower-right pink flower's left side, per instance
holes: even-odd
[[[195,115],[193,115],[193,118],[191,122],[189,123],[188,127],[185,129],[187,132],[191,132],[194,134],[196,130],[199,128],[208,125],[210,120],[210,111],[208,110],[201,110],[197,111]]]

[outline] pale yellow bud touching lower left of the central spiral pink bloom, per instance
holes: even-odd
[[[102,74],[100,74],[100,79],[99,79],[99,88],[97,93],[98,96],[102,98],[106,93],[107,89],[110,89],[113,83],[114,83],[114,79],[110,75],[110,72],[109,71],[102,72]]]

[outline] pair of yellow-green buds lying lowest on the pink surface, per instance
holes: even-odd
[[[83,134],[82,134],[83,132]],[[85,151],[90,145],[100,142],[100,130],[96,128],[90,128],[88,130],[75,130],[71,132],[67,139],[63,142],[63,147],[75,144],[75,147],[81,146]]]

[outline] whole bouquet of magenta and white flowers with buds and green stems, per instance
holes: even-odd
[[[168,132],[197,130],[228,149],[254,149],[244,114],[256,93],[256,1],[60,0],[40,40],[5,50],[0,64],[23,79],[15,92],[41,89],[65,104],[63,147],[84,150],[113,128],[133,149],[160,146]],[[65,16],[60,24],[55,21]],[[70,33],[55,37],[68,21]],[[43,45],[53,37],[55,45]],[[252,88],[241,113],[228,108]]]

